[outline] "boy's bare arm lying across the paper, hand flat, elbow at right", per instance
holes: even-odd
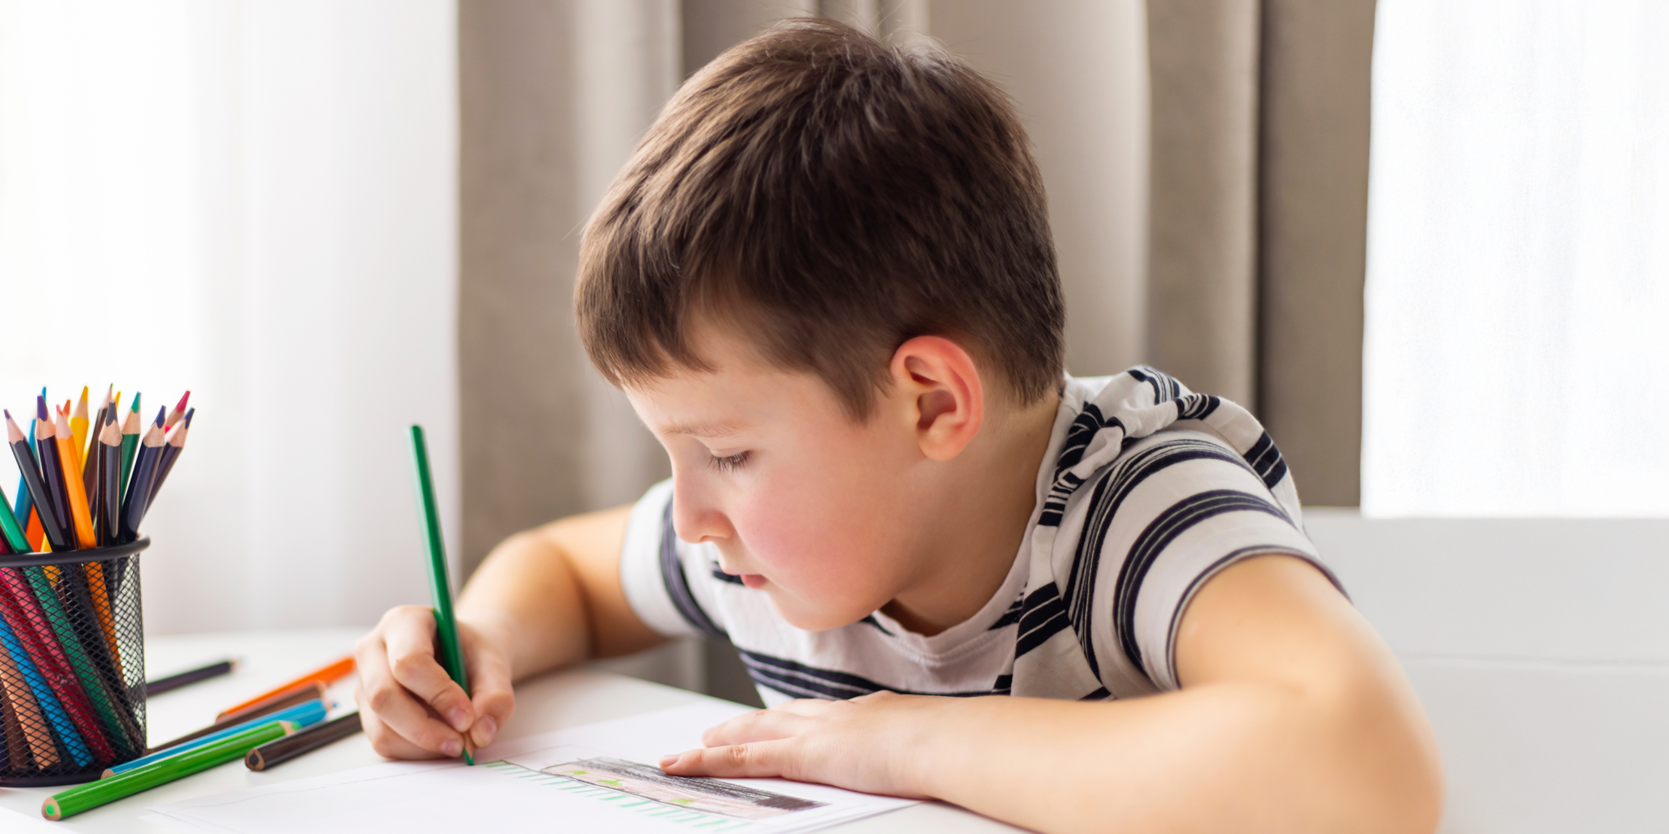
[[[714,727],[668,772],[786,776],[946,799],[1046,832],[1429,832],[1437,744],[1390,651],[1292,557],[1210,579],[1183,689],[1117,702],[866,696]]]

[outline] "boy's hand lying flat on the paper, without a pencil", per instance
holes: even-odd
[[[703,749],[663,756],[673,776],[783,777],[870,794],[925,797],[923,741],[961,699],[875,692],[789,701],[701,734]]]

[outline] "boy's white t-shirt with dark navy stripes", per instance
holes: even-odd
[[[1008,577],[931,637],[880,610],[840,629],[789,626],[763,590],[719,570],[711,544],[678,539],[671,499],[668,480],[631,512],[626,599],[661,634],[728,639],[766,704],[881,689],[1077,701],[1177,689],[1177,627],[1208,577],[1260,554],[1322,567],[1263,427],[1148,367],[1065,379]]]

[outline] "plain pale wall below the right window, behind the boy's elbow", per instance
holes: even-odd
[[[1445,834],[1664,831],[1669,522],[1305,525],[1432,717]]]

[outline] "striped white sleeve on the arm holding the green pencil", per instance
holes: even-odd
[[[724,637],[706,564],[709,545],[693,545],[673,530],[673,482],[644,492],[626,522],[621,545],[621,589],[646,626],[666,637],[706,634]]]

